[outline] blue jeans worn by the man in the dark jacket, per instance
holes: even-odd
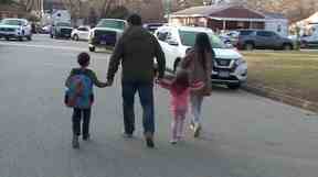
[[[123,82],[123,107],[125,133],[132,134],[135,131],[135,95],[138,91],[142,107],[142,124],[145,135],[155,133],[155,108],[153,108],[153,84],[141,81]]]

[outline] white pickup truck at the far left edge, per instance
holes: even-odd
[[[0,23],[0,36],[6,40],[18,38],[23,41],[32,40],[32,27],[25,19],[3,19]]]

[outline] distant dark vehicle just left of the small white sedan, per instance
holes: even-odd
[[[59,38],[59,37],[64,37],[64,38],[71,38],[71,33],[73,31],[73,27],[71,23],[68,22],[57,22],[52,25],[51,27],[51,38]]]

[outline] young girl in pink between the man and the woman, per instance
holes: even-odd
[[[170,90],[171,121],[171,144],[176,144],[183,137],[183,125],[189,107],[189,95],[191,90],[204,87],[202,81],[190,84],[189,74],[186,70],[178,70],[173,80],[161,79],[159,85]]]

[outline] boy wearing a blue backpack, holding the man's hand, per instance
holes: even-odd
[[[82,137],[84,141],[89,140],[89,120],[91,108],[94,102],[93,86],[104,88],[108,85],[97,79],[96,74],[88,69],[91,57],[87,53],[81,53],[77,56],[80,68],[73,68],[65,86],[67,87],[65,93],[65,104],[73,108],[73,148],[80,148],[78,136],[81,135],[81,121],[82,123]]]

